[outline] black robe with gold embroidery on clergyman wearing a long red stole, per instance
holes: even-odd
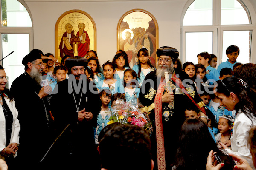
[[[184,71],[178,71],[175,69],[175,74],[177,77],[183,81],[185,79],[190,80],[189,82],[186,81],[186,87],[190,87],[191,91],[189,91],[190,96],[196,101],[196,103],[201,102],[199,95],[196,92],[196,88],[190,77]],[[161,79],[161,78],[160,78]],[[155,126],[155,105],[154,99],[156,96],[157,88],[160,83],[160,79],[157,82],[156,71],[152,71],[149,73],[142,84],[139,101],[145,106],[145,109],[150,112],[149,117],[153,124],[153,133],[150,136],[151,138],[151,148],[152,148],[152,156],[155,163],[154,170],[157,170],[157,142],[156,142],[156,126]],[[154,83],[150,84],[150,81]],[[185,120],[184,116],[184,109],[186,105],[191,105],[192,101],[189,99],[186,94],[182,92],[182,90],[177,86],[177,84],[172,80],[172,84],[176,86],[174,90],[174,113],[168,117],[162,114],[162,124],[163,124],[163,136],[164,136],[164,146],[165,146],[165,156],[166,156],[166,170],[171,169],[170,165],[173,163],[175,154],[177,151],[177,142],[179,139],[179,132],[181,125]],[[189,85],[189,86],[188,86]],[[193,90],[194,89],[194,90]],[[145,90],[145,92],[144,92]],[[163,92],[163,94],[166,91]],[[167,109],[169,103],[162,103],[162,113]]]

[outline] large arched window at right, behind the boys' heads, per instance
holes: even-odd
[[[247,0],[243,1],[249,4]],[[227,61],[226,49],[230,45],[237,45],[240,49],[237,62],[255,62],[256,59],[252,58],[255,41],[252,37],[256,35],[252,21],[255,16],[250,16],[251,6],[247,8],[244,2],[189,0],[181,21],[182,62],[197,64],[197,54],[207,51],[218,57],[219,65]]]

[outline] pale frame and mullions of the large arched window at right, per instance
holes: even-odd
[[[187,9],[195,0],[188,0],[183,8],[183,12],[180,20],[180,34],[181,34],[181,57],[180,60],[182,63],[186,62],[186,33],[187,32],[213,32],[213,54],[218,56],[217,67],[222,62],[225,56],[222,56],[223,50],[223,31],[252,31],[251,35],[251,48],[250,48],[250,62],[256,63],[256,23],[255,12],[248,0],[240,0],[247,7],[251,24],[241,24],[241,25],[221,25],[221,0],[212,0],[212,25],[210,26],[183,26],[183,19],[186,14]],[[252,11],[252,12],[250,12]],[[196,57],[196,56],[195,56]]]

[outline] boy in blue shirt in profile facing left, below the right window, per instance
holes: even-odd
[[[216,68],[213,68],[209,65],[209,58],[211,57],[209,53],[203,52],[197,55],[198,57],[198,64],[204,65],[206,69],[205,76],[209,80],[210,84],[212,85],[215,81],[219,80],[219,72],[216,70]]]

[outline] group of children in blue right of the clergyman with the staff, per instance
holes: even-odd
[[[227,61],[221,63],[217,69],[217,57],[207,52],[198,54],[198,64],[185,62],[182,67],[183,71],[194,81],[197,92],[205,104],[210,133],[215,136],[213,137],[215,142],[223,143],[230,140],[236,111],[228,111],[220,106],[220,99],[214,93],[219,81],[226,77],[233,77],[233,66],[237,63],[236,58],[239,55],[239,48],[231,45],[227,48],[226,54]],[[240,65],[242,64],[237,63],[235,67]],[[214,88],[210,88],[210,85],[214,85]],[[193,110],[190,106],[185,107],[184,113],[186,119],[200,118],[198,110],[196,108]],[[220,148],[221,145],[218,144],[218,147]]]

